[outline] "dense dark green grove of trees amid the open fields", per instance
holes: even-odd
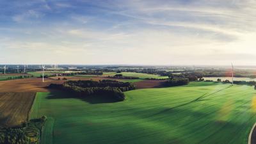
[[[63,84],[50,84],[49,88],[58,88],[67,92],[76,93],[77,97],[104,96],[117,101],[125,99],[123,92],[134,90],[131,83],[112,80],[102,81],[67,81]]]

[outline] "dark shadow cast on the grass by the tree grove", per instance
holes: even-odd
[[[118,102],[116,99],[111,99],[111,97],[108,97],[107,95],[90,95],[90,96],[79,97],[74,93],[63,92],[61,90],[55,90],[55,89],[48,89],[48,90],[50,90],[51,93],[47,96],[47,99],[80,99],[90,104]]]

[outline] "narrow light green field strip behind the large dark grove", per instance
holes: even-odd
[[[139,77],[140,79],[154,78],[154,79],[167,79],[168,76],[159,76],[155,74],[143,74],[137,72],[121,72],[118,74],[122,74],[125,77]],[[103,76],[115,76],[116,72],[104,72]]]

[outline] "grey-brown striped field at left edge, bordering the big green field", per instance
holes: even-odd
[[[26,122],[35,93],[0,93],[0,127],[14,127]]]

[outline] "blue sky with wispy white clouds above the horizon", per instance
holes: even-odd
[[[0,64],[256,65],[255,0],[1,0]]]

